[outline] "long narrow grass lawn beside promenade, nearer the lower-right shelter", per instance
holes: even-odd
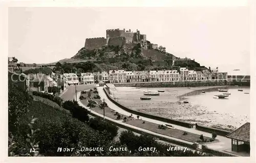
[[[197,142],[197,140],[200,140],[200,135],[199,134],[195,134],[195,133],[191,133],[191,132],[187,132],[187,135],[183,135],[184,131],[183,130],[179,130],[179,129],[174,129],[174,128],[166,128],[166,129],[159,129],[158,128],[158,124],[156,123],[152,123],[152,122],[148,122],[145,121],[145,123],[142,123],[143,120],[138,120],[138,119],[134,119],[134,120],[129,120],[126,121],[124,123],[136,126],[136,127],[140,127],[143,129],[147,129],[153,132],[157,132],[160,134],[164,134],[167,135],[169,137],[173,137],[173,138],[177,138],[177,139],[181,139],[181,140],[185,140],[188,142]],[[210,140],[210,138],[205,137],[204,139]],[[217,141],[217,140],[216,140]]]

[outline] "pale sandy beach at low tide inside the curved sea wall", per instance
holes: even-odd
[[[133,110],[170,119],[200,123],[205,126],[227,130],[234,130],[249,121],[247,112],[245,114],[239,113],[238,115],[234,114],[232,110],[223,112],[223,107],[210,107],[207,103],[201,101],[215,100],[209,101],[209,103],[217,104],[218,102],[225,102],[224,100],[220,101],[221,99],[212,99],[210,96],[212,93],[217,92],[218,88],[220,87],[149,88],[148,91],[165,91],[160,93],[160,96],[151,96],[152,100],[140,100],[140,97],[143,96],[143,91],[147,91],[147,88],[116,87],[111,88],[110,91],[112,93],[111,96],[115,97],[118,102]],[[204,99],[206,97],[200,97],[202,90],[205,90],[207,96],[210,97],[207,97],[207,99]],[[193,98],[195,97],[198,99],[194,100]],[[184,99],[191,100],[191,102],[183,103]],[[224,104],[220,103],[221,106]]]

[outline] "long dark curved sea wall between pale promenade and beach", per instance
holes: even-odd
[[[159,117],[159,116],[155,116],[155,115],[151,115],[151,114],[145,114],[145,113],[142,113],[142,112],[138,112],[138,111],[132,110],[131,108],[122,105],[121,103],[117,102],[114,98],[112,98],[106,88],[103,88],[103,90],[104,90],[106,96],[109,98],[109,100],[111,100],[117,106],[121,107],[126,112],[130,112],[132,114],[136,114],[136,115],[139,115],[139,116],[142,116],[142,117],[146,117],[146,118],[155,119],[155,120],[166,122],[166,123],[176,124],[176,125],[187,127],[187,128],[192,128],[194,126],[191,123],[187,123],[187,122],[183,122],[183,121],[178,121],[178,120],[173,120],[173,119],[168,119],[168,118],[164,118],[164,117]]]

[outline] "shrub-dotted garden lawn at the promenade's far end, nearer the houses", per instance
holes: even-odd
[[[86,99],[81,100],[81,102],[82,102],[82,104],[84,104],[84,105],[86,105],[86,106],[88,105],[88,100],[93,100],[93,101],[97,102],[97,103],[95,104],[96,107],[90,107],[90,110],[92,110],[92,111],[94,111],[94,112],[97,112],[97,113],[103,115],[103,109],[101,109],[101,108],[99,107],[100,104],[103,103],[103,101],[101,101],[101,99],[95,99],[95,98],[94,98],[94,96],[99,95],[96,91],[97,91],[97,90],[92,89],[92,91],[87,91],[86,94],[81,94],[80,96],[86,97]],[[91,92],[91,97],[90,97],[90,98],[88,97],[88,92]],[[117,119],[117,115],[115,115],[115,114],[116,114],[116,111],[112,110],[112,109],[111,109],[110,107],[108,107],[108,106],[105,107],[105,116],[106,116],[106,117],[109,117],[109,118],[118,120],[118,119]],[[120,116],[121,116],[120,121],[122,121],[124,117],[126,117],[127,119],[134,119],[134,118],[129,118],[129,116],[122,115],[122,114],[120,114]]]

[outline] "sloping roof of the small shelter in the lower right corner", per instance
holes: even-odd
[[[238,129],[226,135],[227,138],[250,142],[250,123],[247,122]]]

